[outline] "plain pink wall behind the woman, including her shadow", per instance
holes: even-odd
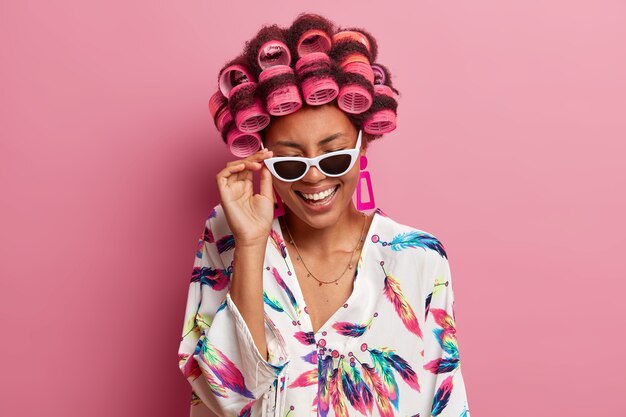
[[[362,26],[402,97],[378,205],[446,245],[474,417],[626,416],[626,3],[2,5],[2,416],[184,416],[207,101],[262,23]],[[621,165],[621,166],[620,166]]]

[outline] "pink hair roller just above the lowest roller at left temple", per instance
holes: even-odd
[[[235,117],[237,128],[245,133],[258,132],[270,124],[270,116],[255,95],[257,83],[235,86],[230,92],[228,106]]]

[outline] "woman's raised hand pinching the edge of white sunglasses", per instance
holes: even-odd
[[[265,245],[274,220],[272,174],[263,160],[272,151],[261,149],[247,158],[231,161],[217,174],[217,188],[226,221],[237,246]],[[254,194],[254,171],[261,171],[260,192]]]

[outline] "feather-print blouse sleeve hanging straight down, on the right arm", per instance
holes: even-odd
[[[424,332],[423,385],[425,398],[432,398],[421,415],[433,417],[469,417],[465,383],[454,316],[454,293],[448,259],[440,255],[433,270],[430,304],[426,303]]]

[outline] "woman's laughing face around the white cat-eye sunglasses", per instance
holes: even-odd
[[[334,104],[303,107],[295,113],[277,117],[265,132],[265,147],[273,156],[313,158],[332,151],[354,148],[358,130]],[[365,138],[361,139],[365,154]],[[321,229],[334,225],[350,208],[359,178],[359,161],[340,177],[327,177],[311,167],[295,182],[272,177],[274,188],[286,209],[311,227]],[[329,198],[315,201],[312,194],[334,191]]]

